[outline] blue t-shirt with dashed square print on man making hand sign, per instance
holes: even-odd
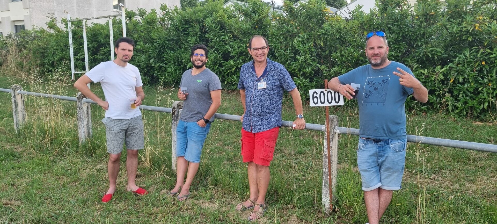
[[[360,84],[359,137],[371,139],[404,139],[406,132],[406,98],[414,92],[400,84],[393,72],[401,68],[413,75],[405,65],[392,61],[382,69],[361,66],[338,76],[342,84]],[[413,75],[414,76],[414,75]]]

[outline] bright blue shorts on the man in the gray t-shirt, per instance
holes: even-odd
[[[179,121],[176,128],[176,157],[184,156],[189,162],[200,162],[200,154],[211,123],[204,128],[197,122]]]

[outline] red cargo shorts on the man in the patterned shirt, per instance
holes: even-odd
[[[243,161],[269,166],[269,163],[273,160],[278,134],[279,127],[257,133],[251,133],[242,128]]]

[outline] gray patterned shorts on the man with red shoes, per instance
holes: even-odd
[[[102,119],[107,136],[107,152],[119,154],[126,141],[126,149],[138,150],[145,148],[145,134],[142,115],[130,119]]]

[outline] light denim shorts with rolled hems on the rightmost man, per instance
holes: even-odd
[[[357,166],[362,178],[362,190],[378,187],[401,189],[406,162],[407,139],[376,140],[359,138]]]

